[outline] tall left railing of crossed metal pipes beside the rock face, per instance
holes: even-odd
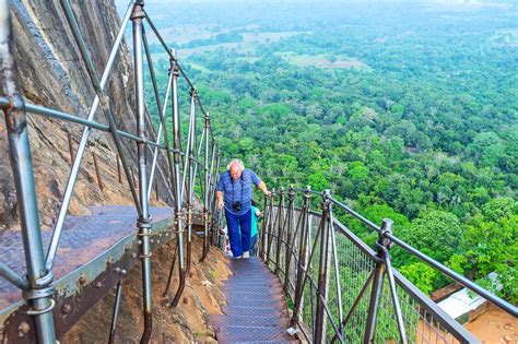
[[[165,295],[170,286],[170,277],[178,262],[179,283],[172,306],[176,306],[183,294],[186,283],[186,273],[191,264],[191,240],[192,227],[195,225],[195,204],[197,185],[197,175],[199,177],[202,193],[202,225],[204,229],[203,252],[200,261],[207,258],[209,245],[211,242],[211,229],[215,232],[221,228],[222,216],[215,206],[214,186],[217,181],[217,171],[220,169],[220,150],[210,127],[210,116],[202,106],[193,83],[179,66],[175,54],[167,47],[158,31],[154,26],[150,16],[143,11],[143,1],[130,1],[128,10],[122,17],[120,28],[111,47],[104,72],[99,78],[97,70],[91,57],[89,47],[85,44],[81,28],[75,19],[69,0],[60,0],[61,8],[69,24],[69,28],[74,38],[76,48],[80,51],[81,60],[86,68],[90,82],[95,91],[95,97],[89,110],[87,117],[62,112],[56,109],[43,106],[26,104],[20,94],[21,87],[17,85],[17,70],[13,58],[12,25],[10,22],[9,1],[0,0],[0,62],[4,66],[2,70],[2,83],[0,93],[0,107],[5,112],[8,123],[8,134],[10,142],[11,161],[13,162],[14,180],[20,204],[22,234],[27,262],[27,278],[20,276],[7,264],[0,264],[0,275],[5,277],[16,287],[24,290],[24,297],[30,301],[31,309],[27,312],[33,316],[36,324],[36,340],[42,343],[51,343],[56,341],[51,309],[55,305],[52,286],[52,268],[58,254],[58,247],[61,234],[64,227],[69,205],[73,195],[73,189],[78,180],[78,175],[83,162],[90,134],[92,130],[99,130],[110,134],[117,150],[117,166],[122,165],[123,175],[128,181],[130,193],[138,213],[138,238],[140,244],[139,258],[142,261],[142,286],[143,286],[143,311],[144,311],[144,332],[141,342],[145,343],[151,337],[152,332],[152,296],[151,296],[151,244],[150,235],[152,232],[150,198],[153,188],[154,175],[156,170],[162,174],[158,167],[160,156],[165,157],[167,176],[164,176],[168,183],[168,190],[173,193],[175,210],[174,228],[176,230],[176,249],[172,262],[169,278],[165,288]],[[115,114],[105,94],[105,87],[114,67],[116,57],[120,50],[125,31],[132,22],[132,43],[133,43],[133,62],[134,62],[134,86],[136,86],[136,122],[137,134],[120,130],[115,120]],[[148,37],[144,26],[149,25],[152,33],[163,45],[169,56],[169,78],[165,85],[165,92],[161,96],[161,90],[156,81],[153,59],[148,45]],[[153,88],[153,98],[156,104],[160,118],[158,130],[155,132],[150,114],[146,110],[144,99],[144,55],[148,62],[149,75]],[[178,105],[178,79],[183,78],[189,86],[190,92],[190,111],[189,128],[186,138],[186,147],[181,146],[180,114]],[[170,104],[169,104],[170,102]],[[101,108],[105,115],[108,124],[103,124],[96,120],[97,109]],[[200,135],[197,130],[197,111],[202,114],[203,131]],[[173,133],[169,135],[167,128],[166,114],[170,109]],[[84,127],[82,137],[75,151],[72,154],[72,167],[63,193],[57,221],[54,227],[52,237],[46,258],[44,256],[44,246],[40,236],[38,209],[36,204],[36,194],[34,191],[34,173],[31,162],[31,146],[27,135],[27,122],[25,112],[50,117],[59,120],[78,123]],[[156,133],[156,134],[155,134]],[[154,137],[154,140],[149,137]],[[200,142],[198,145],[198,137]],[[131,161],[128,157],[122,140],[130,140],[137,143],[137,165],[139,170],[138,183],[130,168]],[[173,146],[169,145],[173,143]],[[204,146],[202,145],[204,144]],[[210,147],[209,147],[210,146]],[[184,153],[185,152],[185,153]],[[151,161],[148,158],[151,153]],[[118,170],[119,179],[121,178]],[[217,234],[213,235],[214,238]],[[212,240],[215,241],[215,240]],[[186,246],[186,248],[185,248]],[[114,340],[120,298],[122,295],[120,281],[117,284],[116,300],[114,305],[113,323],[110,327],[109,342]]]

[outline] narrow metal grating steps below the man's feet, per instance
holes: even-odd
[[[279,278],[258,258],[232,259],[224,315],[211,316],[219,343],[298,343]]]

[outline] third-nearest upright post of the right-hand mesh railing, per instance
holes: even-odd
[[[308,216],[309,216],[309,202],[311,199],[311,188],[308,186],[306,187],[306,191],[304,192],[304,204],[301,212],[302,221],[301,221],[301,240],[298,244],[298,264],[297,264],[297,275],[296,275],[296,284],[295,284],[295,300],[294,300],[294,310],[292,315],[292,319],[290,320],[290,324],[293,327],[298,322],[298,313],[301,310],[301,305],[303,303],[303,294],[304,294],[304,271],[306,270],[306,258],[307,258],[307,235],[308,235]]]

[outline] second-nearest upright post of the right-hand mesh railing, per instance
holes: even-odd
[[[329,212],[331,201],[330,191],[325,190],[322,194],[322,217],[320,220],[320,254],[318,263],[318,284],[317,284],[317,307],[315,311],[315,332],[313,333],[314,343],[323,343],[326,339],[325,308],[328,287],[328,250],[329,250]]]

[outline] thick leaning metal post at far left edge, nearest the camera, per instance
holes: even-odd
[[[38,343],[56,343],[56,332],[52,319],[54,286],[52,272],[45,268],[45,254],[39,227],[38,205],[34,185],[34,170],[28,141],[28,124],[23,110],[24,100],[17,90],[17,71],[14,61],[14,50],[11,32],[9,1],[0,0],[0,66],[2,79],[0,92],[10,98],[12,106],[3,109],[9,137],[9,156],[13,169],[16,188],[22,239],[27,269],[28,288],[23,296],[28,300],[30,310],[35,324]]]

